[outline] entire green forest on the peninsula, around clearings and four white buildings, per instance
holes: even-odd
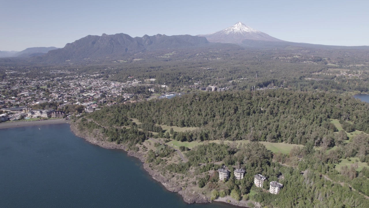
[[[125,144],[133,151],[141,150],[149,137],[202,142],[181,148],[188,162],[170,164],[167,161],[173,157],[173,149],[156,143],[156,150],[147,152],[146,162],[162,175],[186,179],[194,172],[196,181],[186,186],[211,192],[213,199],[230,195],[266,207],[366,207],[369,169],[359,170],[355,164],[335,167],[350,158],[369,163],[368,110],[369,104],[337,93],[234,90],[114,105],[86,114],[76,124],[90,132],[99,130],[108,141]],[[332,120],[339,120],[342,130],[338,131]],[[177,132],[163,130],[163,125],[197,128]],[[356,130],[362,133],[350,135],[348,140],[346,132]],[[282,154],[266,149],[259,141],[304,146]],[[207,174],[220,164],[231,171],[225,182]],[[244,179],[235,180],[234,168],[246,170]],[[281,182],[280,194],[256,188],[255,174],[268,178],[264,190],[270,181]]]

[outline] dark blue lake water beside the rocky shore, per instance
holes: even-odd
[[[186,207],[123,151],[76,137],[69,124],[0,130],[0,208]]]

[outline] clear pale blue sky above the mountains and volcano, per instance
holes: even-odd
[[[207,34],[238,21],[286,41],[368,46],[368,8],[368,0],[4,0],[0,50],[64,47],[90,34]]]

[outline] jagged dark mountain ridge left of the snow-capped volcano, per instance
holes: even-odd
[[[124,33],[103,34],[102,36],[89,35],[73,43],[68,43],[63,48],[49,51],[42,56],[42,62],[58,63],[87,58],[114,58],[145,50],[199,47],[207,44],[209,42],[206,38],[190,35],[166,36],[157,34],[135,38]],[[40,61],[40,58],[34,57],[32,60]]]

